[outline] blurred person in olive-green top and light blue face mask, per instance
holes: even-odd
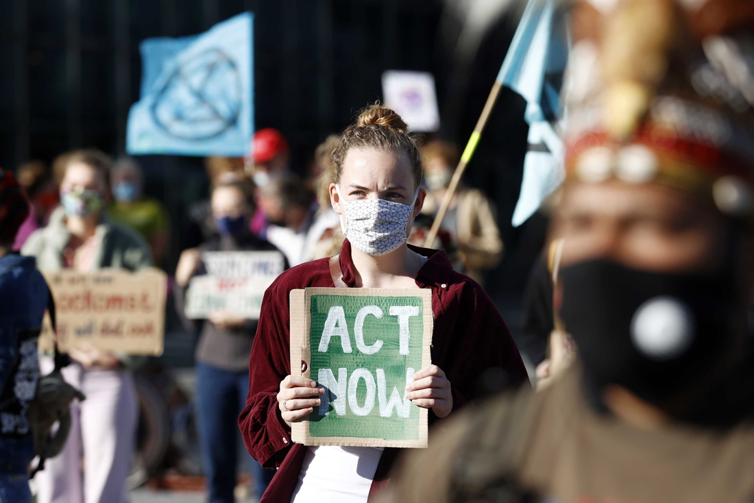
[[[160,201],[146,198],[144,173],[135,159],[120,158],[112,167],[112,198],[108,216],[113,222],[133,228],[152,247],[152,258],[157,265],[167,254],[167,212]]]

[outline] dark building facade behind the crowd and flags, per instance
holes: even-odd
[[[492,2],[496,0],[475,0]],[[432,72],[442,130],[463,146],[515,29],[517,12],[488,23],[477,46],[458,52],[459,0],[0,0],[0,166],[50,162],[69,149],[124,152],[129,108],[139,98],[139,42],[204,32],[253,11],[255,127],[277,127],[305,173],[317,143],[381,98],[382,72]],[[497,2],[507,4],[508,2]],[[499,14],[499,13],[498,13]],[[459,56],[460,54],[460,56]],[[517,291],[541,222],[513,229],[526,147],[523,100],[504,91],[467,182],[498,203],[507,256],[492,290]],[[173,221],[173,262],[185,207],[206,195],[198,158],[145,156],[146,192]],[[526,242],[518,256],[518,241]],[[168,264],[170,267],[170,263]]]

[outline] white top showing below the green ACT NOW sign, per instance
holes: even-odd
[[[309,447],[290,503],[366,503],[384,447]]]

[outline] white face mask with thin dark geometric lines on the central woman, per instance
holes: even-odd
[[[340,187],[336,186],[336,190],[342,198]],[[343,235],[357,250],[367,255],[385,255],[397,250],[406,242],[406,228],[418,194],[419,190],[416,189],[410,206],[385,199],[343,201],[345,223],[342,215],[340,218]]]

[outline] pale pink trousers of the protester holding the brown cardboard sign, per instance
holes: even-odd
[[[53,368],[41,359],[42,373]],[[128,370],[63,369],[87,399],[71,404],[72,426],[60,455],[37,474],[38,503],[125,503],[139,404]]]

